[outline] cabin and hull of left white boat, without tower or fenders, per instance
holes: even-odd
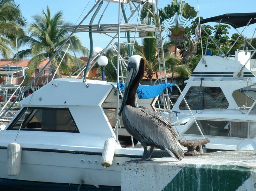
[[[143,150],[116,144],[112,166],[101,166],[104,142],[111,136],[117,139],[111,124],[115,89],[106,81],[87,84],[82,79],[56,79],[20,102],[23,107],[0,132],[0,185],[15,180],[17,185],[35,181],[120,187],[120,165],[140,159]],[[20,173],[9,176],[7,146],[15,139],[22,147]]]

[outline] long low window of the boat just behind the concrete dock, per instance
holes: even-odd
[[[231,121],[197,120],[203,135],[247,138],[248,123]],[[185,134],[201,135],[194,122]]]

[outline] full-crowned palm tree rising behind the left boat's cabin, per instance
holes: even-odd
[[[22,59],[25,56],[32,56],[28,64],[28,78],[31,77],[38,64],[47,58],[51,59],[68,38],[70,33],[65,29],[61,29],[61,26],[73,25],[70,22],[65,22],[61,11],[51,17],[50,9],[47,6],[46,12],[43,10],[42,13],[42,15],[37,14],[32,17],[34,21],[29,25],[28,29],[30,36],[22,36],[18,39],[20,46],[29,46],[28,49],[18,52],[18,58]],[[79,38],[73,35],[70,39],[74,50],[87,56],[88,49],[82,46]],[[64,46],[65,50],[69,49],[68,45]],[[56,58],[52,59],[50,67],[53,67],[52,65],[55,60]],[[61,72],[70,75],[73,63],[76,63],[75,57],[69,53],[65,54],[65,51],[61,51],[55,65],[57,67],[60,64],[58,76],[60,76]]]

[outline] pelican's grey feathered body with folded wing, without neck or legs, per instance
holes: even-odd
[[[127,132],[143,146],[166,150],[178,160],[184,158],[183,149],[177,141],[178,134],[169,119],[145,107],[130,105],[125,105],[122,116]]]

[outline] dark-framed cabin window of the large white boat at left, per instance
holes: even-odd
[[[7,130],[79,133],[68,108],[23,108]]]

